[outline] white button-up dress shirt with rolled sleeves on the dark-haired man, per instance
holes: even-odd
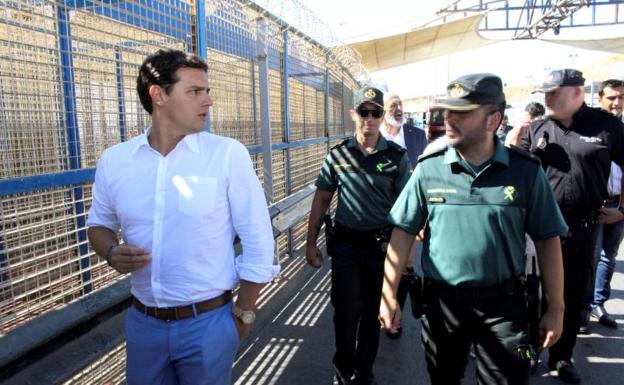
[[[247,149],[201,132],[162,156],[147,135],[104,151],[87,220],[150,251],[151,262],[132,273],[132,294],[147,306],[181,306],[216,297],[239,279],[275,277],[272,226]],[[235,259],[236,234],[243,254]]]

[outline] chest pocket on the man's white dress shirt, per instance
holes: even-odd
[[[178,209],[192,217],[202,217],[215,209],[217,178],[179,176],[172,179],[178,192]]]

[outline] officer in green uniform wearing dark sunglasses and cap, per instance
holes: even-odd
[[[375,384],[372,368],[379,344],[379,301],[385,246],[392,227],[388,213],[409,178],[407,153],[379,133],[383,93],[367,87],[356,93],[351,117],[355,136],[333,147],[316,181],[306,246],[307,262],[320,267],[316,241],[334,192],[335,229],[327,240],[332,256],[338,384]]]

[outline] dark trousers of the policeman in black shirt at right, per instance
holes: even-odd
[[[563,254],[563,333],[549,350],[549,364],[570,360],[581,323],[585,288],[592,276],[593,258],[598,238],[597,224],[568,221],[568,237],[561,245]]]

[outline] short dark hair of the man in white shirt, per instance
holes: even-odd
[[[143,61],[137,77],[137,92],[143,108],[150,115],[152,114],[150,86],[160,86],[169,94],[171,87],[180,80],[176,75],[176,71],[180,68],[208,71],[208,66],[199,56],[175,49],[159,49]]]

